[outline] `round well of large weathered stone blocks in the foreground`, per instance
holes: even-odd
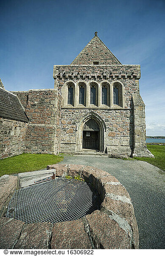
[[[66,189],[65,191],[59,189],[59,197],[57,197],[58,192],[56,191],[56,197],[53,200],[59,206],[59,217],[54,223],[49,218],[45,222],[42,220],[40,223],[38,221],[34,223],[35,220],[29,222],[14,220],[12,215],[7,215],[8,218],[6,218],[3,213],[0,217],[1,249],[138,249],[139,233],[131,198],[125,187],[115,177],[92,166],[56,164],[47,166],[47,169],[56,169],[56,177],[59,177],[57,180],[62,181],[63,187],[66,183],[66,187],[70,188],[67,193]],[[64,178],[66,175],[81,177],[84,181],[78,183],[74,179],[67,180]],[[3,204],[0,205],[0,210],[4,212],[8,204],[6,202],[14,193],[17,184],[14,176],[1,178],[0,202],[3,201]],[[45,183],[48,184],[48,182]],[[83,183],[87,190],[84,187],[81,188]],[[78,185],[75,188],[76,191],[80,193],[79,198],[73,200],[76,195],[73,191],[75,184]],[[34,198],[37,194],[39,195],[40,190],[38,187],[35,193],[31,192]],[[55,192],[55,190],[53,191]],[[49,198],[48,189],[45,189],[45,192],[46,202]],[[89,197],[87,197],[87,193],[89,193]],[[24,201],[25,205],[28,205],[27,198]],[[63,221],[67,210],[74,208],[69,208],[69,204],[80,201],[79,206],[88,205],[89,202],[91,203],[91,199],[93,208],[89,206],[89,209],[85,209],[83,214],[81,212],[81,215],[76,215],[73,219],[70,219],[72,217],[72,213],[70,213],[67,215],[68,218]],[[44,200],[38,210],[44,212],[45,217],[48,217],[48,207],[44,207]],[[8,213],[13,214],[13,212],[14,206],[9,204]],[[75,210],[75,212],[78,211]],[[30,211],[29,213],[31,215]]]

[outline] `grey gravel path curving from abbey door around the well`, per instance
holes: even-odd
[[[143,161],[107,156],[69,155],[61,163],[95,166],[127,189],[139,227],[140,249],[165,248],[165,172]]]

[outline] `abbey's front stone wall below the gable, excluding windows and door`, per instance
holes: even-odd
[[[143,106],[132,104],[133,95],[139,94],[140,65],[56,65],[53,70],[55,88],[62,94],[61,109],[61,152],[82,150],[82,130],[80,123],[83,116],[97,113],[104,125],[103,146],[100,151],[109,154],[151,157],[145,143],[145,112]],[[98,103],[90,104],[90,83],[97,85]],[[73,105],[67,104],[67,87],[73,85]],[[85,104],[78,104],[79,85],[85,85]],[[109,104],[101,104],[101,87],[108,86]],[[120,84],[120,102],[113,104],[113,86]],[[138,108],[138,111],[136,111]],[[95,117],[93,117],[95,119]],[[135,147],[136,145],[136,147]]]

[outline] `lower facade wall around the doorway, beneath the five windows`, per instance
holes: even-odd
[[[62,109],[61,111],[61,152],[75,152],[79,141],[78,124],[90,109]],[[104,131],[104,151],[131,155],[133,145],[133,115],[130,110],[93,109],[106,125]]]

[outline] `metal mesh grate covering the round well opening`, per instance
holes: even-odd
[[[84,181],[58,178],[17,190],[6,217],[25,223],[72,221],[99,209],[100,200]]]

